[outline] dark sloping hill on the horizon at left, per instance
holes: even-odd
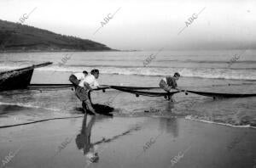
[[[0,20],[0,52],[106,50],[113,49],[99,42]]]

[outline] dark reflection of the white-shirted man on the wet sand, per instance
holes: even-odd
[[[89,119],[89,123],[87,125],[87,117]],[[98,154],[96,153],[95,144],[90,143],[90,132],[91,128],[94,125],[96,120],[95,115],[86,115],[84,114],[84,120],[81,132],[76,137],[77,147],[79,149],[83,148],[84,155],[86,156],[87,160],[90,162],[97,162],[99,160]]]

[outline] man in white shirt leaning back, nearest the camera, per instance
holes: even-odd
[[[86,105],[90,112],[94,115],[96,115],[96,111],[93,109],[90,101],[90,91],[92,91],[94,88],[100,87],[99,83],[96,81],[99,74],[99,70],[91,70],[90,75],[86,76],[84,80],[80,81],[79,86],[76,88],[76,95],[82,101],[84,112],[86,111]]]

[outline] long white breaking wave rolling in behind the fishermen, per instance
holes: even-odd
[[[256,69],[221,69],[221,68],[163,68],[163,67],[111,67],[111,66],[51,66],[38,70],[74,72],[81,70],[101,70],[102,74],[113,75],[136,75],[136,76],[170,76],[174,72],[179,72],[184,77],[200,77],[213,79],[230,80],[256,80]]]

